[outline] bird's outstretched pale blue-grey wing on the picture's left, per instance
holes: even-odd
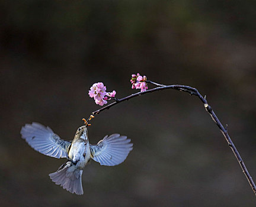
[[[21,128],[21,137],[34,148],[50,157],[66,157],[68,158],[68,150],[71,146],[70,141],[60,139],[50,127],[44,127],[39,123],[25,124]]]

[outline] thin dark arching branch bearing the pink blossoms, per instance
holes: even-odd
[[[229,137],[227,127],[223,127],[223,125],[219,121],[219,118],[217,118],[215,112],[213,111],[212,107],[206,101],[206,96],[203,97],[196,88],[192,88],[190,86],[184,86],[184,85],[169,85],[169,86],[166,86],[166,85],[162,85],[162,84],[159,84],[159,83],[152,82],[150,80],[146,80],[146,82],[147,83],[152,83],[153,85],[156,85],[158,87],[146,90],[144,92],[138,92],[138,93],[132,94],[130,96],[126,96],[126,97],[121,98],[121,99],[116,99],[115,102],[113,102],[112,104],[109,104],[107,106],[104,106],[103,108],[98,109],[97,111],[92,112],[92,115],[100,114],[101,111],[104,111],[105,109],[110,109],[112,106],[114,106],[116,104],[119,104],[120,102],[128,101],[129,99],[135,98],[136,96],[144,95],[146,93],[156,92],[158,90],[174,89],[174,90],[180,90],[182,92],[187,92],[190,95],[195,95],[201,100],[201,102],[203,102],[204,108],[209,113],[210,117],[212,117],[212,119],[216,123],[217,127],[219,127],[219,129],[222,132],[223,136],[225,137],[229,147],[231,147],[231,150],[233,151],[233,154],[235,155],[236,159],[238,160],[238,163],[239,163],[240,167],[242,168],[242,172],[245,174],[245,177],[247,178],[247,180],[249,182],[249,185],[251,186],[254,194],[256,195],[256,186],[254,184],[254,181],[252,180],[252,177],[250,176],[250,174],[247,170],[247,167],[245,166],[244,161],[242,160],[242,157],[238,153],[238,150],[236,149],[235,144],[233,144],[231,138]],[[88,118],[87,121],[89,121],[90,119],[91,118]]]

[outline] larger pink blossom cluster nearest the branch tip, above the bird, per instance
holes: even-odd
[[[91,98],[94,98],[94,101],[96,104],[103,106],[104,104],[107,104],[107,100],[111,99],[107,96],[110,96],[114,98],[116,95],[116,91],[113,90],[113,92],[106,92],[106,87],[103,83],[94,83],[94,85],[91,86],[88,95]],[[107,96],[106,96],[107,95]]]

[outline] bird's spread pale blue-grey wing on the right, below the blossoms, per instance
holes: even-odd
[[[112,134],[106,135],[97,145],[90,145],[91,157],[104,166],[115,166],[122,163],[130,151],[133,144],[126,136]]]

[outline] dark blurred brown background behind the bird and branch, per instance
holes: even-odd
[[[134,143],[116,167],[85,167],[84,195],[48,174],[65,159],[34,151],[33,121],[72,140],[92,111],[95,82],[117,98],[139,72],[207,95],[256,181],[256,2],[200,0],[1,1],[2,206],[253,206],[225,138],[194,96],[164,90],[102,112],[89,140],[120,133]],[[150,88],[151,86],[149,86]]]

